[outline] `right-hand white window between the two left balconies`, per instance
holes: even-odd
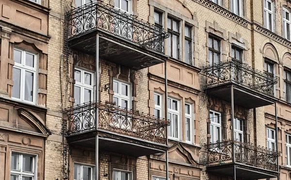
[[[113,80],[113,91],[113,102],[116,102],[117,106],[130,109],[131,85],[126,82]]]

